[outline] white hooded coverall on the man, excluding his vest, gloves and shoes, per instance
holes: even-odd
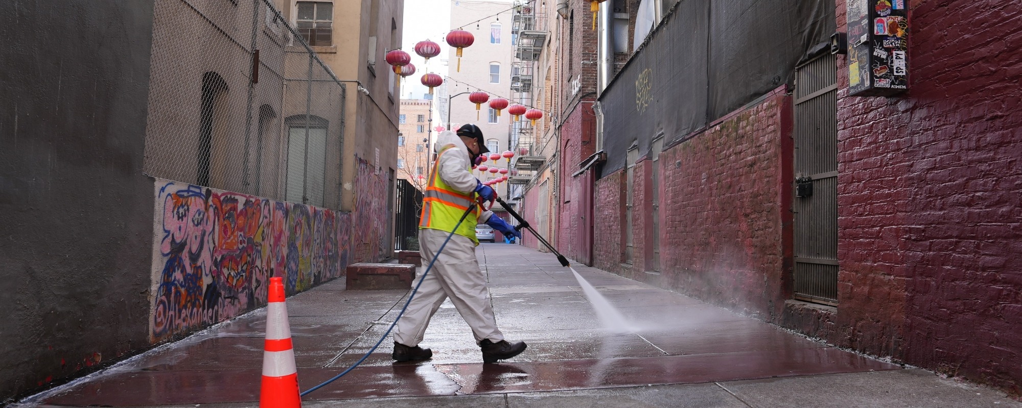
[[[451,144],[455,147],[449,148],[439,156],[436,171],[449,187],[471,195],[478,185],[478,180],[468,170],[469,153],[461,138],[454,132],[443,132],[436,138],[433,150],[438,153],[440,148]],[[485,223],[492,215],[491,211],[480,211],[475,222]],[[469,218],[464,220],[464,222],[472,221]],[[444,240],[450,234],[450,231],[419,230],[419,248],[423,265],[428,265],[436,256]],[[412,303],[408,305],[401,320],[398,320],[398,329],[393,335],[396,342],[409,347],[418,346],[426,333],[426,326],[429,325],[429,319],[448,297],[458,309],[458,313],[461,313],[461,317],[472,328],[476,344],[484,339],[493,343],[504,340],[504,335],[497,328],[486,280],[475,258],[475,242],[468,237],[457,234],[451,237],[433,268],[422,282],[419,291],[415,293]],[[413,288],[422,278],[422,271],[424,270],[420,270],[412,283]]]

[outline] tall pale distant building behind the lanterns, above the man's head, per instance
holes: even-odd
[[[476,111],[475,104],[468,101],[468,93],[484,91],[491,99],[511,100],[511,57],[515,42],[511,31],[512,6],[510,1],[497,0],[451,2],[451,30],[463,29],[475,36],[472,46],[462,53],[460,71],[456,50],[451,48],[447,56],[450,78],[446,80],[446,92],[451,97],[451,128],[475,123],[486,138],[486,147],[497,153],[509,148],[511,115],[505,110],[498,116],[487,104]],[[495,165],[492,160],[486,160],[485,164]],[[508,161],[502,158],[496,166],[508,168]],[[475,174],[483,182],[501,175],[480,171]],[[507,198],[507,183],[497,185],[501,197]]]

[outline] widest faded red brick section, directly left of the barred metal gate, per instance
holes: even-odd
[[[781,310],[788,103],[776,94],[661,154],[662,286],[764,318]]]

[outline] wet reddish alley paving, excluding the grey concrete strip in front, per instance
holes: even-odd
[[[698,300],[574,266],[631,322],[602,327],[568,268],[514,245],[478,248],[498,325],[523,354],[482,364],[468,325],[446,302],[426,330],[433,358],[394,363],[385,340],[362,366],[306,400],[490,394],[695,384],[890,370],[896,365],[791,335]],[[287,299],[303,390],[351,366],[397,317],[407,291],[346,291],[343,278]],[[160,347],[54,390],[47,404],[155,406],[259,400],[265,310]]]

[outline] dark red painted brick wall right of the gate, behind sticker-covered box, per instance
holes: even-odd
[[[837,2],[844,30],[843,1]],[[968,32],[961,17],[983,21]],[[1022,389],[1022,11],[912,1],[910,91],[839,60],[839,344]]]

